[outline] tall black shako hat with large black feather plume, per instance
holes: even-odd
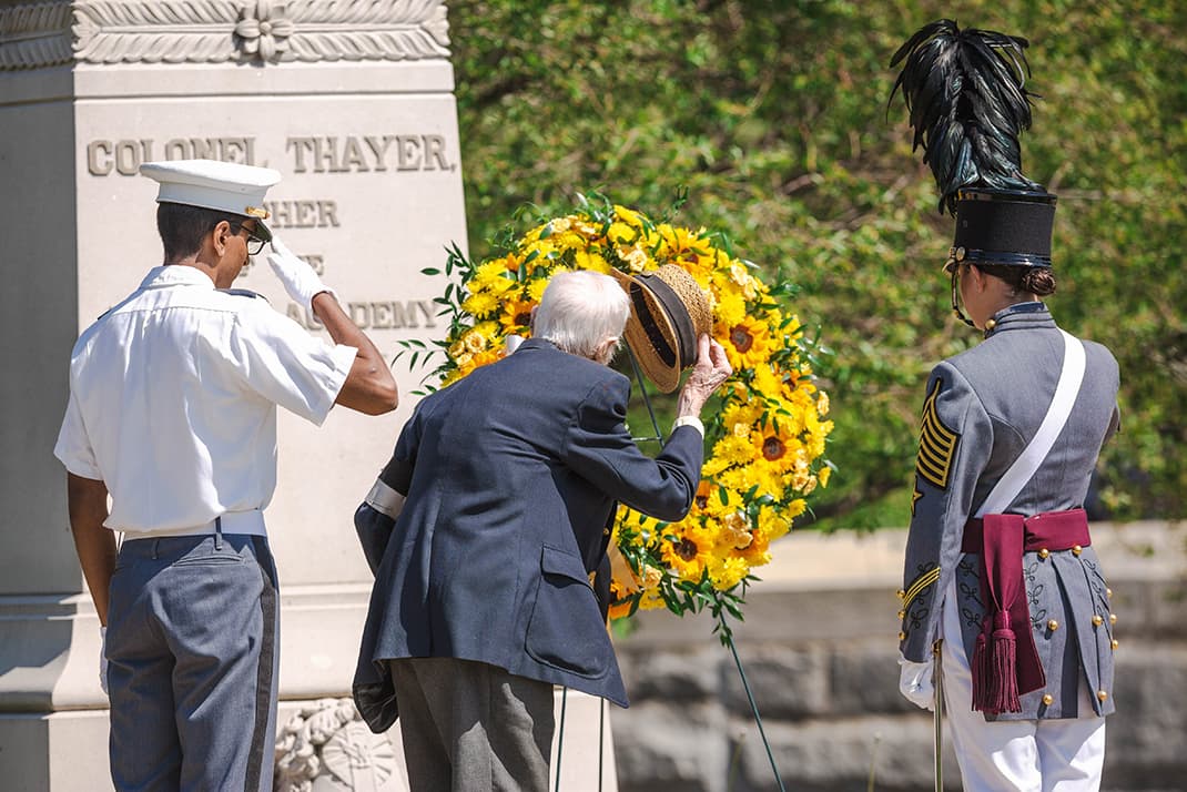
[[[1024,38],[940,19],[895,52],[902,89],[940,191],[956,216],[946,268],[961,261],[1050,267],[1055,196],[1022,175],[1018,134],[1030,128],[1030,74]]]

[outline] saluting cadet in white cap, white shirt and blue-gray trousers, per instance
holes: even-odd
[[[160,183],[165,264],[75,344],[55,449],[104,625],[112,778],[121,791],[271,790],[278,606],[262,509],[277,405],[318,425],[335,404],[377,414],[395,408],[395,382],[264,224],[278,172],[209,160],[141,172]],[[229,289],[268,241],[277,277],[335,346]]]

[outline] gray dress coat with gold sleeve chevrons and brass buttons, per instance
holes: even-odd
[[[985,614],[979,555],[963,553],[965,522],[1037,432],[1064,365],[1064,340],[1042,303],[999,311],[977,347],[937,366],[927,381],[910,532],[903,571],[900,651],[928,661],[940,635],[944,593],[956,578],[966,657]],[[1112,354],[1083,342],[1085,373],[1055,444],[1007,513],[1030,517],[1084,506],[1100,446],[1117,430],[1118,370]],[[1023,581],[1046,688],[1021,697],[1021,712],[988,720],[1066,718],[1083,679],[1096,714],[1113,711],[1111,591],[1096,552],[1026,552]],[[946,640],[954,636],[947,635]]]

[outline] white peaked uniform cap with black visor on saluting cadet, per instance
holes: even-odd
[[[272,235],[262,222],[268,218],[264,194],[280,180],[279,171],[214,159],[174,159],[145,163],[140,172],[160,183],[157,203],[184,203],[254,217],[261,221],[258,227]]]

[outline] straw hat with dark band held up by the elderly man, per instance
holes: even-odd
[[[697,361],[697,338],[713,327],[705,290],[674,264],[637,275],[612,274],[630,297],[627,344],[655,387],[675,391],[680,372]]]

